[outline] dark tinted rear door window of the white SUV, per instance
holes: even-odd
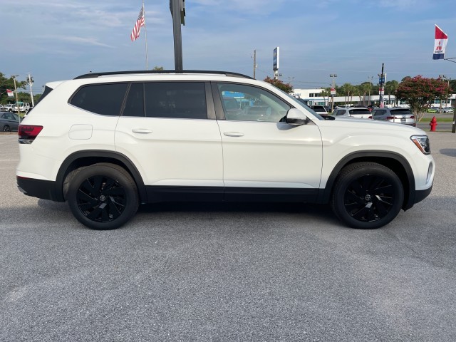
[[[147,117],[207,119],[203,82],[150,82],[144,93]]]

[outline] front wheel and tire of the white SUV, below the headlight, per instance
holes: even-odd
[[[348,227],[375,229],[400,212],[404,190],[398,175],[375,162],[357,162],[341,170],[333,187],[331,208]]]

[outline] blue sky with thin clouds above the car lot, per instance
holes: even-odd
[[[141,0],[1,0],[0,72],[33,93],[47,82],[103,71],[175,68],[169,0],[145,0],[140,38],[130,41]],[[456,63],[432,60],[435,24],[456,58],[454,0],[185,0],[187,70],[274,76],[294,88],[378,83],[422,75],[456,79]],[[147,38],[146,38],[147,37]],[[456,61],[456,59],[455,59]]]

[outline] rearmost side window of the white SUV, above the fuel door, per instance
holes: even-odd
[[[71,105],[101,115],[119,115],[127,83],[83,86],[71,98]]]

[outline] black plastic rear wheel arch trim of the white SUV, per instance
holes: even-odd
[[[100,162],[108,162],[123,167],[136,183],[140,202],[147,202],[147,192],[145,191],[144,181],[142,180],[140,172],[135,167],[133,162],[128,157],[119,152],[104,150],[86,150],[74,152],[66,157],[66,160],[62,162],[56,177],[56,196],[58,199],[61,199],[62,202],[65,201],[63,185],[66,177],[72,171],[80,167],[90,166],[93,164],[98,164]]]

